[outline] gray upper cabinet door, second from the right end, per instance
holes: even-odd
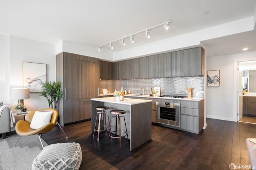
[[[184,50],[172,52],[172,77],[184,76]]]

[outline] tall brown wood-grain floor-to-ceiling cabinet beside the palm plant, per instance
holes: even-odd
[[[56,80],[64,98],[58,112],[60,125],[90,119],[90,98],[98,96],[100,60],[72,53],[56,55]]]

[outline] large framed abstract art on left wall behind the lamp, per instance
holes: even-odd
[[[28,87],[30,93],[40,92],[46,78],[46,64],[23,62],[23,87]]]

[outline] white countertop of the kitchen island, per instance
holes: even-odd
[[[116,97],[93,98],[91,99],[91,101],[101,101],[101,102],[116,103],[121,105],[137,105],[140,103],[152,102],[151,100],[129,99],[129,98],[124,98],[124,101],[116,101]]]

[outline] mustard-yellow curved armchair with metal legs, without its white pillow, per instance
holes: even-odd
[[[56,125],[57,119],[58,119],[58,111],[56,111],[55,109],[40,109],[38,111],[41,112],[49,112],[52,111],[52,117],[50,120],[50,123],[44,125],[43,127],[40,127],[38,129],[32,129],[30,128],[30,123],[32,121],[32,118],[35,114],[36,111],[32,111],[32,112],[28,112],[28,114],[25,116],[25,121],[20,120],[16,123],[15,126],[15,130],[16,133],[20,136],[29,136],[29,135],[33,135],[33,134],[38,134],[40,143],[42,145],[42,147],[44,148],[44,145],[42,144],[42,140],[41,140],[41,134],[49,132],[50,130],[52,130],[52,128],[54,128],[54,126]],[[20,137],[18,138],[18,140],[20,139]],[[17,142],[18,142],[17,140]],[[16,146],[17,142],[14,144],[13,147]]]

